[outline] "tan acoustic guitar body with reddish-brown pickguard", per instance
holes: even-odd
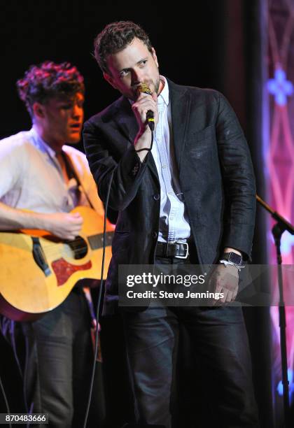
[[[101,279],[104,218],[76,207],[83,217],[80,235],[64,242],[47,231],[0,234],[0,313],[13,320],[35,320],[66,299],[78,280]],[[106,230],[104,279],[111,259],[113,226]]]

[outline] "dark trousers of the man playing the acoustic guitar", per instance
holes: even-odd
[[[17,323],[15,327],[22,329],[25,338],[27,411],[48,413],[50,428],[83,427],[94,358],[83,290],[73,289],[61,305],[39,320]],[[18,343],[21,331],[11,333],[18,334]],[[94,413],[99,412],[97,395],[96,379]],[[94,424],[87,426],[96,427],[101,417],[97,414]]]

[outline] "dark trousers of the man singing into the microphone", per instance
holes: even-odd
[[[155,260],[155,264],[174,263],[185,262]],[[183,373],[183,367],[176,364],[183,329],[191,351],[191,355],[181,355],[183,366],[188,360],[186,366],[193,366],[205,387],[209,385],[208,402],[202,404],[207,408],[203,425],[195,414],[189,426],[207,428],[212,420],[223,428],[259,426],[241,308],[149,307],[138,313],[125,312],[123,318],[139,427],[183,427],[183,416],[176,414],[181,401],[176,374],[180,370],[187,380],[193,378],[193,373]],[[204,385],[199,382],[193,387],[202,390]],[[197,403],[190,400],[190,411],[196,408]]]

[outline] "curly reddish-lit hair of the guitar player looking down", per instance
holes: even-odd
[[[27,110],[33,117],[35,102],[46,104],[48,99],[65,96],[72,97],[76,92],[85,92],[83,76],[69,62],[55,64],[45,61],[32,65],[25,76],[18,80],[16,86],[20,99],[24,101]]]

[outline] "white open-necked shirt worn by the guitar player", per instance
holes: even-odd
[[[85,155],[68,145],[62,150],[75,166],[94,209],[104,215]],[[65,183],[54,150],[34,128],[0,141],[0,201],[37,213],[69,212],[77,205],[89,205],[75,178]]]

